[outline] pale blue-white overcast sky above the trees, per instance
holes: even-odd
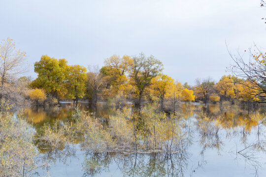
[[[260,0],[0,0],[0,39],[27,52],[27,76],[42,55],[104,64],[112,55],[153,55],[181,83],[219,81],[228,54],[266,49]],[[247,56],[247,54],[245,54]]]

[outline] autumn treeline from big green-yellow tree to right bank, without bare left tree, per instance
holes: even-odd
[[[57,99],[79,99],[91,103],[108,100],[115,103],[133,101],[140,107],[143,102],[158,102],[161,109],[165,103],[175,106],[178,101],[252,102],[258,100],[256,86],[236,76],[222,76],[218,83],[211,79],[196,80],[196,86],[182,85],[162,73],[163,64],[153,56],[143,53],[139,56],[113,55],[105,59],[104,66],[85,67],[68,65],[66,59],[42,56],[35,62],[34,71],[38,77],[31,88],[43,89]]]

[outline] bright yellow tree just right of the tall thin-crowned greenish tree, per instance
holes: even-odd
[[[173,79],[165,74],[160,74],[152,79],[151,89],[154,96],[160,99],[161,109],[164,109],[165,97],[170,94],[173,88]]]

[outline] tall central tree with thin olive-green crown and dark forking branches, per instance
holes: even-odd
[[[154,56],[146,57],[143,53],[133,57],[131,64],[131,79],[135,87],[135,94],[141,109],[143,96],[147,87],[151,85],[151,80],[163,70],[163,63]]]

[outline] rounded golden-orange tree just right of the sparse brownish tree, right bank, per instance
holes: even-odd
[[[235,86],[233,83],[234,79],[231,75],[224,75],[222,76],[220,81],[215,85],[215,88],[225,99],[228,97],[233,98],[235,96]]]

